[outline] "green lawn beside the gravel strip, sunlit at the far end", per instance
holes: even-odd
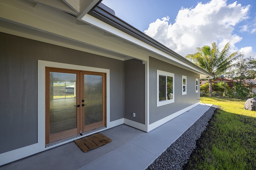
[[[256,170],[256,111],[245,100],[201,97],[219,109],[197,141],[184,169]]]

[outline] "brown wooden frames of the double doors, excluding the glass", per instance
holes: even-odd
[[[50,134],[50,72],[76,74],[76,105],[80,105],[80,107],[76,107],[76,128],[62,131],[56,134]],[[83,87],[81,86],[81,84],[84,84],[84,76],[82,76],[84,74],[102,76],[102,121],[92,123],[87,126],[84,125],[84,107],[82,107],[82,104],[84,104],[84,102],[82,102]],[[52,143],[54,141],[65,139],[73,135],[78,135],[80,133],[96,129],[98,127],[106,127],[106,83],[106,73],[104,72],[45,67],[45,143]]]

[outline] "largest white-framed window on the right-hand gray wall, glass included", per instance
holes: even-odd
[[[156,106],[174,102],[174,74],[157,70],[157,101]]]

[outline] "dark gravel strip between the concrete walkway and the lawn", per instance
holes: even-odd
[[[196,141],[206,130],[209,120],[218,106],[212,105],[192,126],[190,126],[170,147],[168,147],[146,170],[181,170],[196,148]]]

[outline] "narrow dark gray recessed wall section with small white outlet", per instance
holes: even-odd
[[[124,117],[145,124],[145,65],[132,59],[124,61]],[[136,117],[132,117],[132,113]]]

